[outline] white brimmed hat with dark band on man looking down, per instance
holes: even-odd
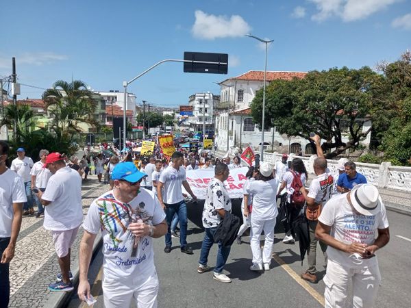
[[[358,213],[373,216],[381,209],[381,198],[374,185],[358,184],[354,186],[350,194],[351,204]]]

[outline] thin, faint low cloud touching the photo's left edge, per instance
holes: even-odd
[[[57,53],[45,51],[40,53],[23,53],[21,55],[16,55],[16,64],[29,64],[40,66],[43,64],[50,64],[55,61],[67,60],[66,55],[59,55]],[[0,55],[0,68],[11,68],[12,57],[5,55]]]

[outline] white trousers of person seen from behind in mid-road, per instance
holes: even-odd
[[[273,252],[275,218],[271,220],[256,220],[251,215],[251,252],[253,253],[253,264],[271,263],[271,253]],[[264,248],[260,248],[260,235],[264,230]]]

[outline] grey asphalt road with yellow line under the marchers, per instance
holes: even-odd
[[[249,237],[243,237],[243,244],[232,246],[225,274],[232,283],[220,283],[212,279],[212,271],[197,273],[197,265],[203,240],[201,227],[201,209],[203,203],[188,207],[188,243],[194,255],[179,251],[178,240],[173,239],[173,251],[166,255],[164,238],[155,241],[155,264],[160,279],[158,307],[321,307],[324,283],[311,284],[299,279],[299,274],[306,269],[299,261],[298,244],[281,242],[284,233],[282,226],[276,226],[276,238],[273,247],[274,259],[271,270],[251,272],[251,249]],[[238,214],[239,204],[234,203]],[[379,289],[375,307],[411,307],[411,217],[388,211],[390,222],[390,242],[377,251],[379,268],[382,272],[382,285]],[[247,233],[246,233],[247,234]],[[402,237],[402,238],[401,238]],[[210,251],[209,265],[216,259],[216,246]],[[320,249],[318,248],[318,251]],[[91,267],[90,281],[95,281],[93,295],[97,297],[94,307],[103,307],[101,277],[97,277],[101,268],[101,253],[97,255]],[[318,269],[323,270],[323,257],[317,253]],[[280,265],[282,264],[282,265]],[[285,264],[285,265],[284,265]],[[325,273],[325,270],[323,270]],[[97,277],[97,279],[96,279]],[[73,295],[68,307],[82,306],[77,296]],[[84,306],[87,307],[87,306]]]

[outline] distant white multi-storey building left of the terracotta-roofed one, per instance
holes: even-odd
[[[186,120],[186,125],[195,131],[203,131],[206,126],[206,133],[214,131],[214,103],[219,103],[219,96],[210,92],[196,93],[188,98],[188,105],[192,106],[192,116]]]

